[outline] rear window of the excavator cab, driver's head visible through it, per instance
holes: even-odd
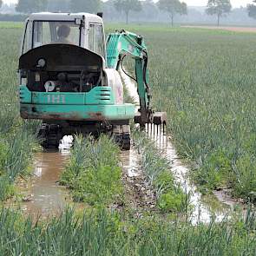
[[[81,46],[80,26],[75,22],[35,21],[33,23],[32,48],[50,43],[66,43]]]

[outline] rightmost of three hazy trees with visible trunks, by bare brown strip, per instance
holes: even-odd
[[[230,0],[208,0],[207,14],[216,15],[218,18],[218,26],[220,26],[220,17],[225,16],[232,9]]]

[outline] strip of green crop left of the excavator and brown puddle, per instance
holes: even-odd
[[[13,182],[28,174],[36,148],[36,122],[22,121],[18,113],[17,52],[20,30],[1,29],[0,43],[0,200],[15,193]]]

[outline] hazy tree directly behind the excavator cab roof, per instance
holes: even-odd
[[[101,7],[101,0],[70,0],[70,10],[73,12],[95,13]]]

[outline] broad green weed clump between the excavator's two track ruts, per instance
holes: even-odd
[[[107,206],[121,200],[121,167],[119,148],[102,135],[75,137],[68,165],[61,176],[61,183],[71,188],[75,201],[84,201],[91,206]]]

